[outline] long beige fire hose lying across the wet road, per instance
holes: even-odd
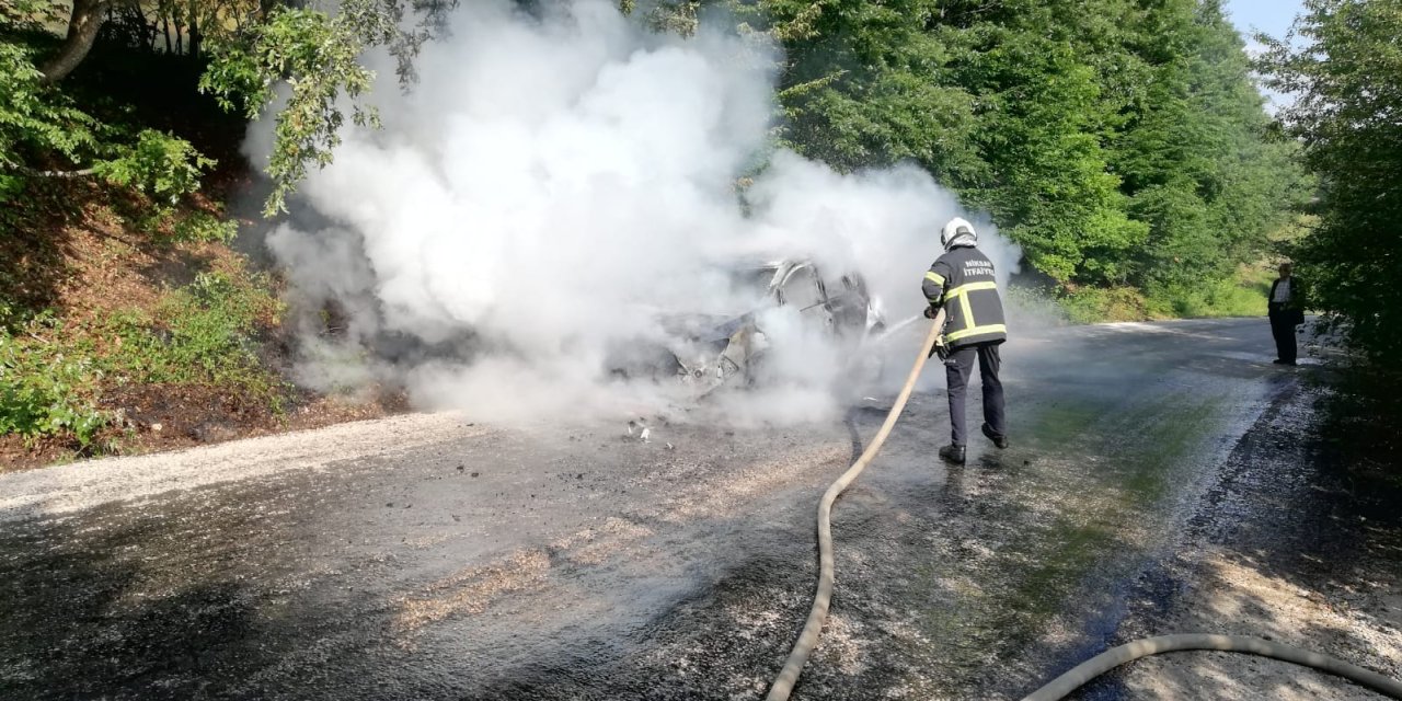
[[[871,444],[866,446],[866,450],[862,451],[861,457],[858,457],[857,461],[852,463],[852,465],[848,467],[847,471],[843,472],[843,475],[838,477],[826,492],[823,492],[823,499],[817,502],[817,592],[813,596],[813,607],[808,613],[808,620],[803,622],[803,629],[799,632],[798,641],[794,644],[794,649],[789,652],[788,660],[784,662],[784,667],[780,670],[778,676],[774,677],[774,683],[770,686],[770,694],[765,697],[767,701],[787,701],[789,694],[794,693],[794,684],[798,681],[799,673],[803,672],[803,665],[808,662],[813,648],[817,646],[817,638],[823,631],[823,622],[827,620],[827,608],[833,599],[834,575],[831,524],[833,502],[836,502],[847,486],[857,479],[857,475],[866,468],[866,464],[876,457],[882,444],[886,443],[886,437],[890,435],[892,428],[896,426],[896,419],[899,419],[901,411],[906,409],[906,402],[910,400],[910,394],[916,388],[916,380],[920,379],[920,372],[925,367],[925,360],[934,353],[935,343],[939,341],[942,328],[944,311],[941,310],[934,324],[931,324],[925,342],[920,346],[920,355],[916,356],[916,365],[911,366],[910,376],[906,379],[904,387],[901,387],[900,394],[896,397],[896,402],[892,405],[890,412],[886,414],[886,421],[876,432],[876,436],[872,439]],[[1241,652],[1293,662],[1295,665],[1340,676],[1378,691],[1380,694],[1402,700],[1402,681],[1388,679],[1377,672],[1350,665],[1328,655],[1319,655],[1316,652],[1302,651],[1279,642],[1239,635],[1179,634],[1144,638],[1105,651],[1052,680],[1052,683],[1033,691],[1022,701],[1059,701],[1092,679],[1120,665],[1150,655],[1178,651]]]

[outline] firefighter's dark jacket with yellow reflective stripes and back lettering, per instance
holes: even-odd
[[[993,261],[977,248],[960,245],[941,255],[925,273],[923,290],[932,307],[945,307],[949,348],[1007,341]]]

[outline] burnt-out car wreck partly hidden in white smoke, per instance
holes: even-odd
[[[736,314],[667,314],[659,318],[667,341],[614,355],[610,372],[621,379],[677,381],[705,397],[722,387],[767,380],[765,360],[775,310],[796,315],[808,338],[822,338],[854,355],[885,328],[878,301],[857,272],[830,273],[813,261],[777,259],[729,271],[732,292],[749,308]]]

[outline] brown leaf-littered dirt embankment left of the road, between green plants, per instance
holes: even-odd
[[[170,220],[189,215],[224,219],[222,202],[247,189],[248,177],[247,164],[220,168]],[[207,348],[210,338],[226,334],[219,324],[237,322],[244,299],[216,297],[178,307],[172,300],[189,299],[179,297],[179,290],[200,275],[216,275],[234,280],[238,294],[271,307],[282,296],[282,282],[276,271],[258,271],[237,245],[181,238],[170,223],[140,223],[150,209],[150,202],[132,193],[74,181],[36,186],[21,210],[0,222],[11,224],[7,236],[0,236],[0,334],[13,341],[8,348],[18,358],[0,359],[0,373],[38,380],[20,377],[18,387],[25,387],[42,384],[55,363],[79,363],[84,370],[72,387],[48,386],[48,395],[31,401],[38,407],[69,404],[104,416],[87,444],[64,430],[0,435],[0,472],[311,429],[407,408],[393,388],[339,400],[293,387],[287,377],[294,339],[276,313],[259,320],[241,343],[248,348],[243,365],[227,362],[217,370],[202,370],[202,365],[227,360],[229,353],[196,358],[177,349],[168,341],[179,335],[175,327],[188,322],[192,332],[206,334],[191,345]],[[240,224],[250,227],[252,222]],[[144,350],[130,352],[133,339],[140,338],[164,341],[153,348],[170,352],[146,360]],[[114,360],[122,358],[123,343],[126,358]],[[160,365],[160,372],[143,372],[147,363]],[[0,390],[11,387],[14,381]],[[0,411],[20,411],[14,404],[0,405]]]

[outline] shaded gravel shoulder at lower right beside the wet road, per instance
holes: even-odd
[[[1138,583],[1110,645],[1145,635],[1255,635],[1402,679],[1402,502],[1321,435],[1323,390],[1291,387],[1237,444],[1183,543]],[[1381,695],[1234,653],[1148,658],[1082,698],[1346,700]]]

